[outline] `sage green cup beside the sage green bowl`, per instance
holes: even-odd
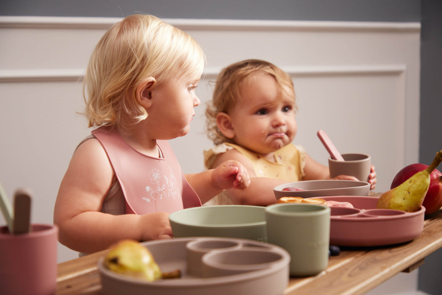
[[[330,208],[283,203],[266,207],[268,242],[290,253],[290,276],[313,276],[328,265]]]

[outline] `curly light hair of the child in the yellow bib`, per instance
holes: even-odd
[[[240,88],[244,79],[255,73],[266,73],[274,77],[278,85],[278,92],[286,92],[294,97],[294,92],[289,93],[284,87],[293,89],[293,81],[289,74],[276,65],[258,59],[248,59],[236,62],[221,70],[218,74],[213,99],[206,107],[206,130],[207,136],[215,145],[223,142],[232,142],[226,138],[217,126],[217,114],[228,113],[240,99]],[[296,104],[295,104],[296,107]]]

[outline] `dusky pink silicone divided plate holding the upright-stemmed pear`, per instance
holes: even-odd
[[[425,208],[404,212],[376,209],[377,197],[328,196],[326,201],[349,202],[354,208],[330,207],[330,244],[380,246],[411,241],[423,230]]]

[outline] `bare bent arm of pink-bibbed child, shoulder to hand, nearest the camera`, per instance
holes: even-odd
[[[89,139],[76,150],[54,207],[54,224],[59,227],[61,244],[75,251],[93,253],[123,238],[145,241],[171,237],[165,212],[146,215],[100,212],[115,179],[98,140]]]

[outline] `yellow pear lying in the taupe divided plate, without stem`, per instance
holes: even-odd
[[[126,239],[112,245],[104,265],[113,272],[136,276],[149,282],[162,277],[152,253],[135,240]]]

